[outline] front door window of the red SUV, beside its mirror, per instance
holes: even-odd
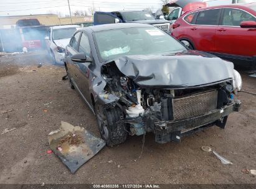
[[[222,25],[240,26],[243,21],[256,21],[256,19],[241,9],[224,9]]]

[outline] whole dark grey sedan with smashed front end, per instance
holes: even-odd
[[[146,132],[161,144],[180,141],[206,127],[224,128],[240,107],[234,93],[242,80],[233,63],[188,50],[148,24],[78,30],[67,45],[65,68],[107,145]]]

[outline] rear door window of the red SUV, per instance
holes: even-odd
[[[211,9],[199,12],[197,25],[219,25],[220,9]]]

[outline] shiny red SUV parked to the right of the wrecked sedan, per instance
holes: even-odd
[[[187,12],[173,24],[171,35],[191,49],[256,65],[256,3]]]

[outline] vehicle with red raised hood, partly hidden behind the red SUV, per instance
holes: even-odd
[[[194,9],[207,7],[207,2],[203,0],[173,0],[166,4],[168,7],[174,7],[174,9],[166,16],[166,20],[174,23],[181,15]]]

